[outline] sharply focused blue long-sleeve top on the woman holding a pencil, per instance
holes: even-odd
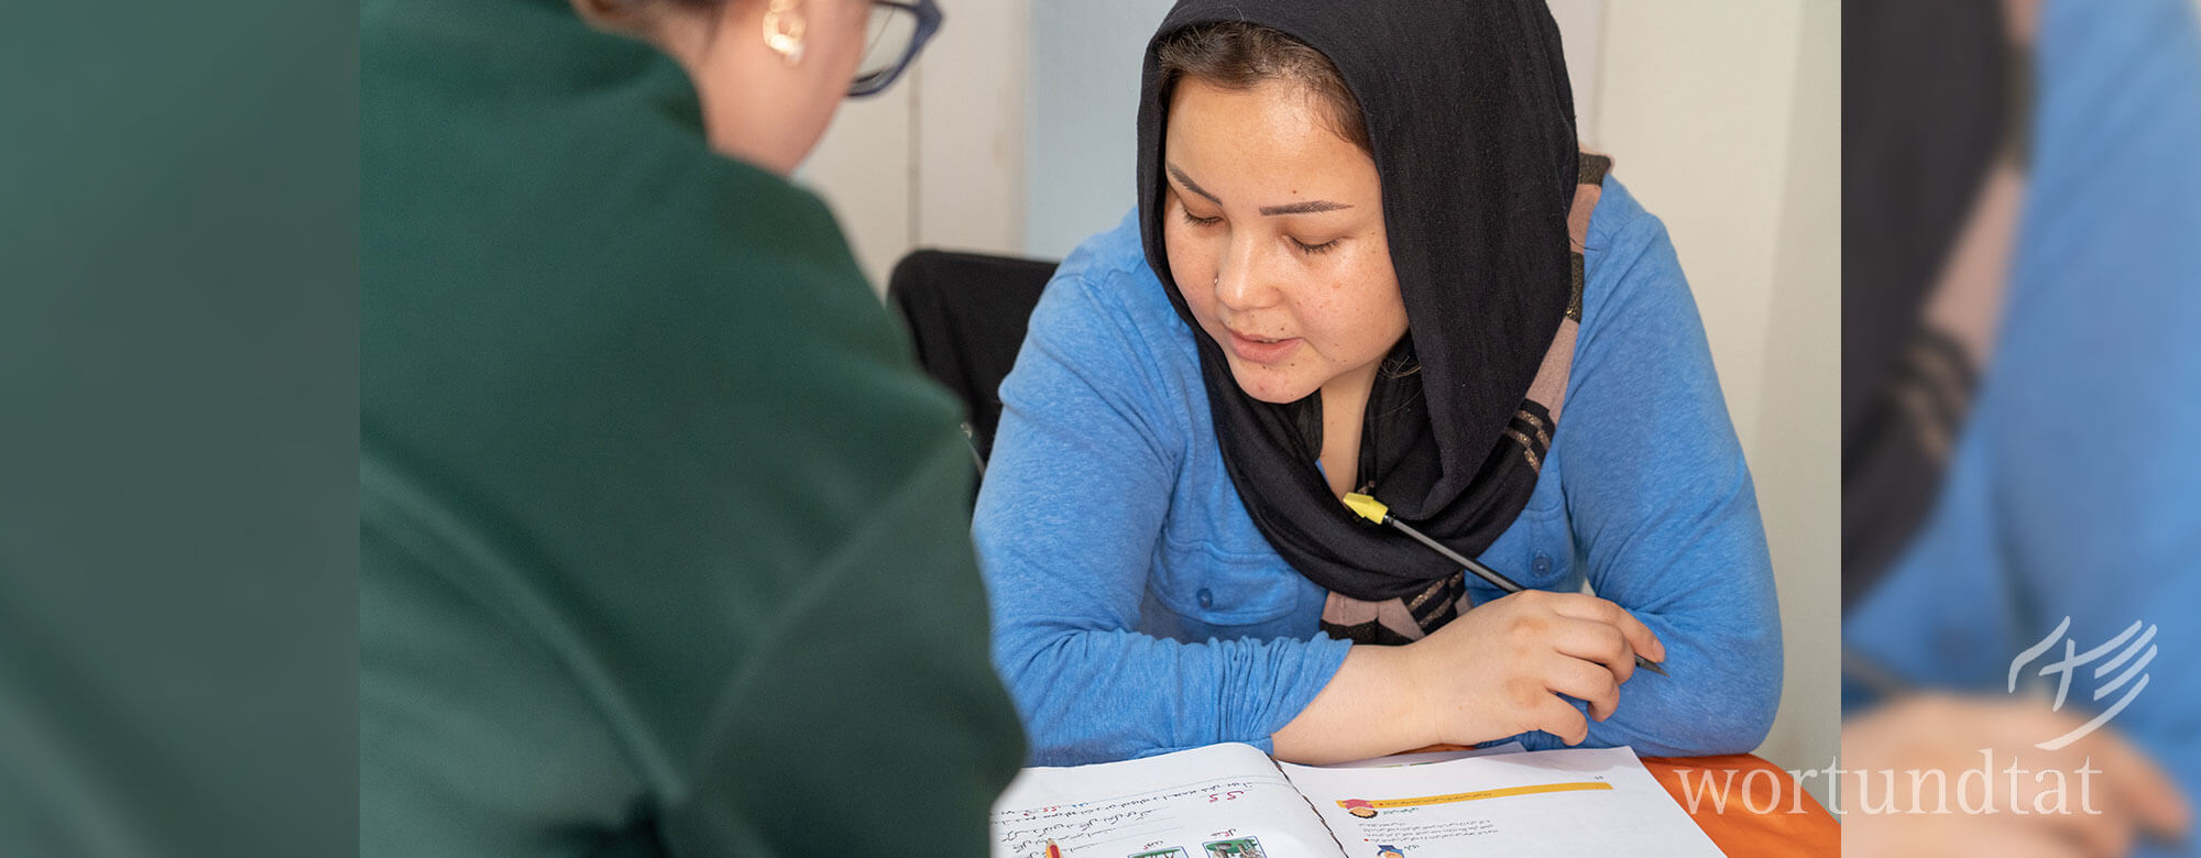
[[[1479,559],[1527,587],[1587,581],[1666,645],[1673,678],[1635,673],[1589,746],[1752,750],[1781,697],[1781,618],[1704,326],[1666,227],[1618,180],[1587,244],[1558,433],[1527,508]],[[1136,213],[1063,260],[1001,405],[975,539],[1030,761],[1272,750],[1351,645],[1318,634],[1323,587],[1246,515]],[[1477,603],[1503,596],[1468,585]]]

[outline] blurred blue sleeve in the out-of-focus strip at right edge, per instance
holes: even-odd
[[[2058,0],[2038,33],[1999,339],[1932,517],[1842,645],[1910,686],[2005,695],[2065,618],[2078,651],[2155,627],[2148,686],[2104,728],[2201,799],[2201,26],[2186,0]],[[2073,675],[2067,713],[2142,682],[2091,700],[2137,662],[2095,675],[2117,651]]]

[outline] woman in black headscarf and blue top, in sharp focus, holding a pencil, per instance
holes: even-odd
[[[1034,761],[1759,744],[1750,473],[1543,2],[1186,0],[1138,132],[1140,207],[1050,284],[979,497]]]

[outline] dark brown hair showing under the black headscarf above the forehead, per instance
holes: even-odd
[[[1180,77],[1224,90],[1250,90],[1266,81],[1307,86],[1327,108],[1329,130],[1345,141],[1369,147],[1369,128],[1360,117],[1360,99],[1345,86],[1345,75],[1307,42],[1279,29],[1248,22],[1193,24],[1175,31],[1153,48],[1162,70],[1162,103],[1169,106]]]

